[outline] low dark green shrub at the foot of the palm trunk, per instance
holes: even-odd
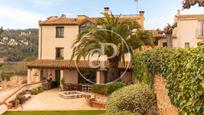
[[[112,92],[122,88],[124,85],[121,82],[113,82],[104,85],[92,85],[91,91],[102,95],[110,95]]]

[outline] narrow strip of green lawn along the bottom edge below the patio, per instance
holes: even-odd
[[[86,111],[46,111],[46,112],[6,112],[3,115],[99,115],[105,113],[103,110]]]

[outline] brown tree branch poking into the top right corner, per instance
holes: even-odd
[[[183,8],[189,9],[191,6],[198,4],[199,6],[204,6],[204,0],[184,0]]]

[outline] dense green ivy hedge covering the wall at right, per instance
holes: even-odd
[[[171,102],[180,113],[204,114],[204,47],[192,49],[157,48],[134,56],[134,73],[143,82],[161,74],[167,80]],[[142,68],[146,67],[148,71]],[[151,83],[150,83],[151,84]]]

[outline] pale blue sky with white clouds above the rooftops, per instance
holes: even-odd
[[[113,14],[137,14],[145,11],[145,29],[162,29],[173,23],[183,0],[0,0],[0,26],[4,29],[37,28],[39,20],[49,16],[101,16],[104,7]],[[204,14],[204,8],[194,6],[182,14]]]

